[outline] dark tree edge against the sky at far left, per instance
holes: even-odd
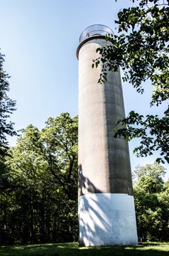
[[[4,55],[0,53],[0,156],[6,154],[8,149],[7,135],[16,135],[13,122],[8,121],[16,106],[16,101],[11,100],[7,92],[9,90],[9,75],[3,69]]]

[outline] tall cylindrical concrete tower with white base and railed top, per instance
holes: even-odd
[[[129,147],[113,137],[115,122],[124,117],[120,71],[109,72],[100,85],[102,66],[91,68],[107,33],[103,25],[86,28],[77,49],[80,246],[137,244]]]

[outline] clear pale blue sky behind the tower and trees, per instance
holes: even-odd
[[[4,69],[11,75],[9,96],[17,101],[17,111],[11,116],[16,129],[29,124],[41,129],[48,117],[78,114],[78,38],[95,23],[115,31],[117,12],[129,4],[132,1],[0,0],[0,48],[6,55]],[[151,87],[138,95],[124,84],[123,92],[126,114],[160,111],[149,110]],[[10,143],[15,145],[16,139]],[[129,146],[132,169],[156,159],[157,154],[138,159],[132,154],[136,142]]]

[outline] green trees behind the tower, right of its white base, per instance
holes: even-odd
[[[168,241],[169,190],[160,164],[137,166],[134,171],[134,198],[139,236]]]

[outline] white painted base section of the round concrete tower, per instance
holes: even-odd
[[[90,193],[78,198],[79,244],[136,245],[134,197],[123,193]]]

